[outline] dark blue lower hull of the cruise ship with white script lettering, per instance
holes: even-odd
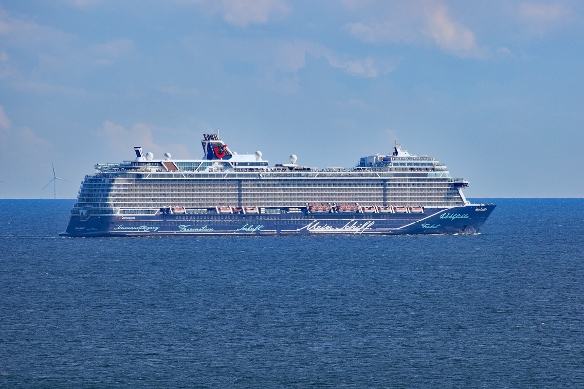
[[[397,235],[478,233],[495,205],[424,213],[284,213],[274,215],[73,215],[60,236]]]

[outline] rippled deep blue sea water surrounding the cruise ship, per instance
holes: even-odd
[[[584,387],[584,199],[482,201],[478,236],[79,239],[0,200],[0,387]]]

